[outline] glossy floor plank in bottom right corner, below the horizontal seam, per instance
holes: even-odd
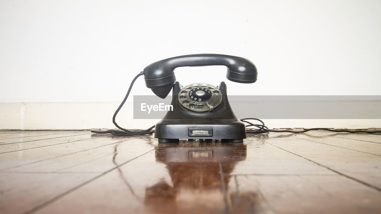
[[[381,193],[344,176],[233,176],[232,213],[378,213]]]

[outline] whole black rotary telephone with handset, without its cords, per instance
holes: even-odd
[[[238,83],[254,83],[257,69],[248,59],[222,54],[191,54],[154,62],[144,68],[144,80],[158,97],[165,98],[173,89],[171,105],[165,117],[155,126],[159,143],[179,139],[229,139],[243,142],[245,125],[235,117],[227,99],[226,85],[218,87],[194,83],[182,87],[174,69],[184,66],[225,65],[226,78]]]

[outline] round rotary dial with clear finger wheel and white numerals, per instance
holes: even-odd
[[[181,105],[194,112],[213,111],[221,101],[221,91],[206,83],[187,85],[179,93]]]

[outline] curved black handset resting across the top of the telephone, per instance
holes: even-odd
[[[185,66],[225,65],[226,78],[237,83],[254,83],[257,69],[248,59],[223,54],[191,54],[154,62],[144,68],[144,80],[158,97],[165,98],[176,81],[174,69]]]

